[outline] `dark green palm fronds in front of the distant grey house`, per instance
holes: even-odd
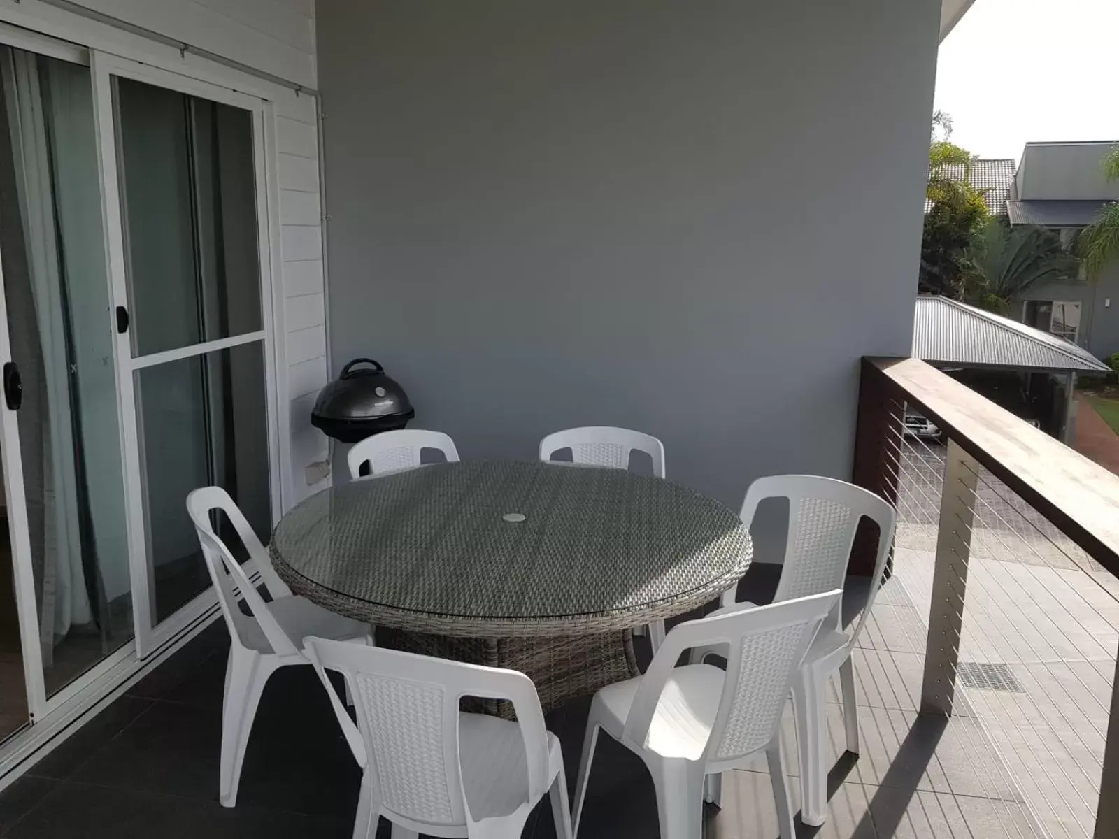
[[[967,302],[1006,313],[1012,298],[1047,282],[1075,282],[1080,261],[1052,230],[1036,225],[1010,227],[989,219],[963,253]]]

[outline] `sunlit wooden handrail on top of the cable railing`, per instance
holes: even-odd
[[[863,376],[916,407],[1119,577],[1119,475],[913,358],[864,358]]]

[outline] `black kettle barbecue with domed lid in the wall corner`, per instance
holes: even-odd
[[[385,375],[384,367],[372,358],[355,358],[319,392],[311,424],[328,437],[357,443],[370,434],[403,428],[415,413],[404,388]]]

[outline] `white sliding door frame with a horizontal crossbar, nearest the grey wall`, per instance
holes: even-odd
[[[164,352],[133,356],[130,330],[115,332],[114,362],[116,366],[117,398],[124,456],[124,481],[128,494],[126,518],[129,527],[130,567],[132,575],[133,615],[135,618],[137,654],[145,658],[163,643],[175,638],[185,626],[213,601],[213,592],[204,591],[167,620],[154,623],[154,579],[152,557],[148,553],[148,534],[144,516],[143,473],[141,464],[141,440],[137,415],[135,383],[137,370],[182,358],[204,356],[215,350],[229,349],[247,343],[262,345],[265,375],[265,411],[267,416],[269,480],[272,519],[282,511],[280,477],[280,422],[278,398],[278,373],[274,332],[275,317],[273,295],[272,242],[278,235],[270,213],[270,196],[276,190],[272,168],[266,166],[265,126],[273,122],[271,103],[265,100],[232,91],[227,87],[200,82],[195,78],[151,67],[139,62],[120,58],[92,50],[94,112],[97,120],[97,153],[101,161],[103,218],[105,224],[105,247],[109,262],[111,298],[114,307],[129,308],[128,277],[125,263],[124,209],[120,189],[117,167],[116,120],[114,116],[113,77],[131,78],[158,87],[210,100],[250,112],[253,125],[253,160],[256,185],[257,262],[261,280],[262,329],[219,340],[205,341]],[[186,516],[186,507],[184,507]]]

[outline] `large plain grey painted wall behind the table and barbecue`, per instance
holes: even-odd
[[[464,459],[610,424],[734,507],[849,477],[858,359],[911,345],[940,0],[317,11],[335,375],[379,359]]]

